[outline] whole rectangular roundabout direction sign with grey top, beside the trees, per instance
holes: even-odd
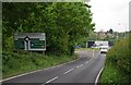
[[[45,33],[19,33],[14,35],[15,50],[46,50],[46,35]]]

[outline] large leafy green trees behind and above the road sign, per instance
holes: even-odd
[[[5,50],[13,49],[15,33],[46,33],[46,52],[71,54],[73,46],[95,26],[91,10],[81,2],[5,2],[2,11]]]

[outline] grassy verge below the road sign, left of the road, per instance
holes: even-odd
[[[13,75],[31,72],[35,70],[46,69],[52,65],[66,63],[78,58],[74,56],[44,56],[39,53],[19,54],[13,52],[4,52],[2,54],[2,77],[7,78]]]

